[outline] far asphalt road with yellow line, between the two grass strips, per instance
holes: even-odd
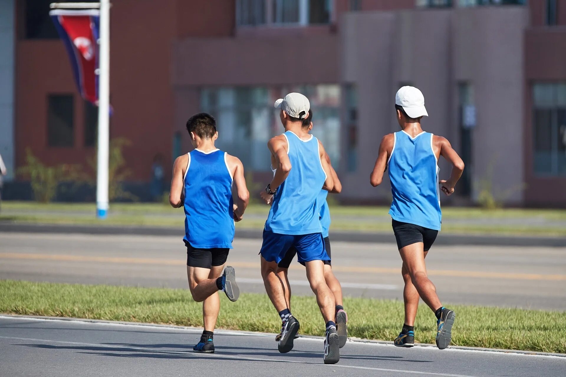
[[[228,264],[243,292],[263,293],[260,240],[236,239]],[[433,246],[428,273],[444,303],[566,310],[566,248]],[[332,242],[345,296],[402,300],[395,244]],[[0,232],[0,279],[187,288],[179,237]],[[293,294],[311,294],[291,265]]]

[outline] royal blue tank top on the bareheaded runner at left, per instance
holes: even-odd
[[[232,176],[226,153],[217,149],[188,154],[185,184],[185,238],[194,248],[232,248]]]

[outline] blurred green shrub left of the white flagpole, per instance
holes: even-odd
[[[76,164],[45,166],[30,148],[25,149],[25,162],[27,165],[20,167],[18,173],[29,176],[33,196],[41,203],[53,200],[60,182],[78,181],[82,176],[80,166]]]

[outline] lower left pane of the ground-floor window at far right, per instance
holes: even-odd
[[[534,171],[552,172],[552,110],[534,111]]]

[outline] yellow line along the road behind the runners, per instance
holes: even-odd
[[[96,257],[94,255],[68,255],[68,254],[31,254],[31,253],[0,253],[3,259],[31,259],[43,261],[64,262],[101,262],[101,263],[133,263],[138,265],[156,266],[183,266],[185,261],[180,259],[157,259],[157,258],[125,258],[125,257]],[[230,266],[239,268],[258,268],[255,262],[230,262]],[[300,269],[299,266],[291,266],[291,269]],[[395,274],[401,273],[399,268],[385,267],[357,267],[357,266],[334,266],[337,272],[355,272],[362,274]],[[515,272],[487,272],[487,271],[459,271],[459,270],[428,270],[428,275],[451,276],[465,278],[494,278],[494,279],[516,279],[516,280],[551,280],[566,281],[566,275],[544,275],[544,274],[521,274]]]

